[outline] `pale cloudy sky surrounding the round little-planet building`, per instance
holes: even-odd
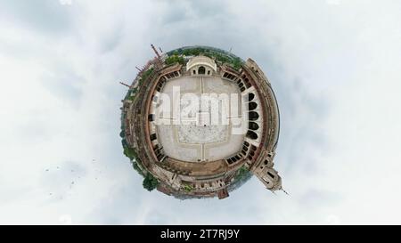
[[[0,223],[401,223],[401,3],[0,0]],[[281,109],[275,166],[229,198],[143,190],[121,99],[153,53],[251,57]]]

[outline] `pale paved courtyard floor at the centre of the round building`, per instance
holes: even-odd
[[[233,134],[233,119],[241,119],[241,93],[236,84],[223,80],[219,77],[179,77],[169,80],[164,86],[162,93],[170,97],[173,94],[173,87],[179,86],[181,97],[192,93],[199,99],[199,105],[193,105],[188,101],[181,101],[181,113],[163,114],[163,119],[171,121],[182,121],[179,125],[157,126],[158,140],[170,158],[184,161],[201,162],[214,161],[226,158],[241,150],[244,139],[243,134]],[[226,93],[230,96],[235,93],[239,97],[239,112],[233,113],[230,102],[211,99],[201,101],[205,93]],[[212,114],[218,110],[218,116]],[[178,104],[171,104],[171,110],[178,108]],[[212,112],[213,110],[213,112]],[[181,115],[180,115],[181,114]],[[216,120],[218,119],[218,120]],[[184,122],[184,124],[183,124]]]

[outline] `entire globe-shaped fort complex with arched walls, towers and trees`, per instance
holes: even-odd
[[[274,170],[280,117],[258,64],[207,46],[148,61],[128,87],[121,114],[125,155],[143,187],[176,198],[226,198],[256,175],[282,190]]]

